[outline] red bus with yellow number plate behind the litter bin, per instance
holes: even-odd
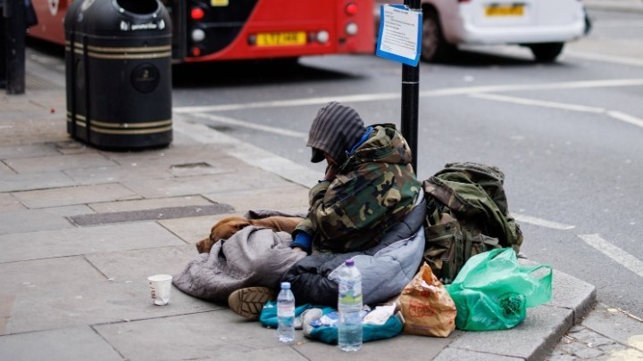
[[[31,37],[64,45],[72,0],[32,0]],[[110,1],[110,0],[96,0]],[[173,62],[373,53],[373,0],[162,0]]]

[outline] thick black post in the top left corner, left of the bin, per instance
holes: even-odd
[[[4,0],[6,93],[24,94],[27,12],[24,0]]]

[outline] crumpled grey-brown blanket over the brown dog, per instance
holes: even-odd
[[[214,243],[210,253],[197,255],[179,275],[174,285],[199,299],[227,304],[230,293],[244,287],[279,289],[281,276],[305,252],[289,245],[290,234],[246,226],[228,240]]]

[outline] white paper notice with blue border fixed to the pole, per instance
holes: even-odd
[[[380,6],[380,34],[376,54],[382,58],[417,66],[422,46],[422,12],[406,5]]]

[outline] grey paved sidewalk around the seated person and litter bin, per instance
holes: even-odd
[[[350,356],[301,332],[281,344],[176,289],[154,306],[146,277],[182,270],[217,219],[303,211],[316,175],[176,114],[166,149],[79,144],[65,130],[62,60],[28,59],[27,93],[0,95],[2,359],[539,360],[596,302],[593,285],[555,272],[554,299],[513,330],[400,335]]]

